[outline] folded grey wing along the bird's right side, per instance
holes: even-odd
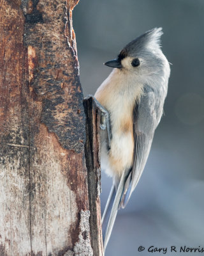
[[[163,86],[153,90],[150,86],[145,85],[140,102],[135,105],[133,111],[134,160],[131,172],[124,184],[120,200],[122,208],[128,203],[147,162],[154,131],[163,113],[166,90],[167,88]]]

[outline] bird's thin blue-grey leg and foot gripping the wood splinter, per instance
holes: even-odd
[[[89,95],[89,97],[92,97],[94,100],[96,106],[98,109],[101,110],[101,122],[100,122],[100,128],[102,130],[107,129],[107,134],[108,134],[108,147],[110,148],[110,141],[112,140],[112,132],[111,132],[111,125],[110,125],[110,115],[108,113],[108,110],[106,110],[99,102],[98,100],[92,96]]]

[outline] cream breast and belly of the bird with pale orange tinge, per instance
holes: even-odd
[[[109,152],[106,136],[101,136],[101,168],[108,175],[117,177],[133,163],[133,108],[142,93],[142,86],[136,83],[135,77],[125,77],[131,81],[124,81],[124,74],[121,76],[120,70],[114,69],[95,94],[96,99],[110,113],[112,127]]]

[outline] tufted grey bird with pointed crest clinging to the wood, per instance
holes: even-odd
[[[113,180],[102,217],[104,250],[117,211],[126,207],[142,175],[163,115],[170,63],[161,51],[161,35],[162,28],[150,29],[104,63],[113,70],[94,95],[105,113],[101,169]]]

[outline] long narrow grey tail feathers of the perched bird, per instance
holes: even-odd
[[[117,187],[117,191],[115,186],[112,186],[110,191],[110,195],[108,196],[108,201],[106,203],[105,211],[103,213],[102,218],[102,232],[103,232],[103,248],[105,251],[106,245],[108,244],[108,240],[110,238],[110,234],[113,229],[113,225],[115,222],[115,218],[117,215],[117,211],[119,210],[120,199],[123,193],[124,184],[127,179],[126,173],[122,174],[120,178],[119,186]]]

